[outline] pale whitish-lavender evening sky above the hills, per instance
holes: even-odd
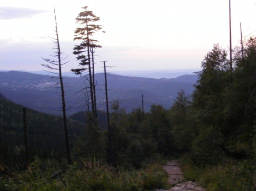
[[[113,70],[200,68],[204,56],[219,43],[229,49],[229,0],[3,0],[0,5],[0,69],[44,70],[53,54],[54,7],[61,52],[69,61],[62,71],[77,68],[72,54],[75,18],[88,6],[100,17],[103,31],[93,36],[95,52]],[[232,47],[256,36],[256,1],[231,0]]]

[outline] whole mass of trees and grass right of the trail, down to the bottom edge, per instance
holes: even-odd
[[[181,163],[186,180],[199,181],[207,190],[256,187],[255,53],[254,37],[245,41],[244,57],[236,47],[231,74],[225,50],[215,45],[198,73],[191,105],[197,135]]]

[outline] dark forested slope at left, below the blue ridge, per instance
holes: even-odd
[[[23,106],[1,99],[1,160],[8,166],[25,162]],[[80,134],[79,123],[69,120],[71,146],[75,134]],[[62,120],[58,116],[27,109],[28,150],[30,160],[65,157]]]

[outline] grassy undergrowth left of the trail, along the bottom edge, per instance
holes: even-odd
[[[153,190],[166,188],[167,173],[159,164],[140,170],[113,168],[99,160],[79,161],[65,173],[52,179],[59,166],[44,166],[36,160],[26,171],[14,171],[0,177],[0,190]]]

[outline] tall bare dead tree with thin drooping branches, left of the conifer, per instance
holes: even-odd
[[[42,58],[45,61],[47,61],[49,64],[41,64],[42,66],[47,67],[50,70],[57,70],[57,72],[49,71],[52,74],[57,74],[57,76],[53,76],[51,78],[59,79],[59,83],[57,85],[60,85],[61,89],[61,100],[62,100],[62,116],[63,116],[63,125],[64,125],[64,131],[65,131],[65,140],[66,140],[66,150],[67,150],[67,158],[68,158],[68,164],[71,164],[71,157],[70,157],[70,149],[69,149],[69,136],[68,136],[68,125],[67,125],[67,117],[66,117],[66,102],[65,102],[65,91],[63,86],[63,77],[61,74],[61,68],[62,65],[66,64],[61,63],[63,60],[65,60],[67,57],[63,58],[61,57],[63,53],[60,52],[60,45],[59,45],[59,37],[58,37],[58,30],[57,30],[57,19],[56,19],[56,13],[54,9],[54,16],[55,16],[55,32],[56,32],[56,38],[51,38],[52,41],[55,44],[54,54],[52,55],[52,58]]]

